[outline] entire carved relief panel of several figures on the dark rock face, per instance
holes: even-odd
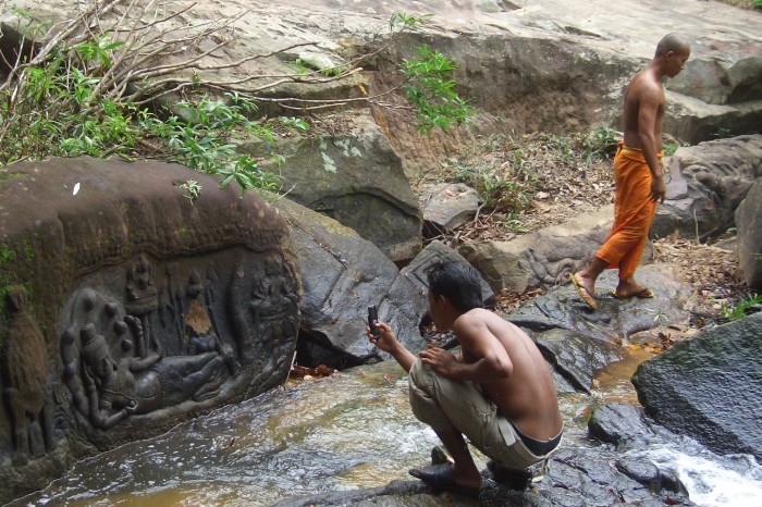
[[[298,279],[282,253],[234,264],[234,294],[226,302],[214,297],[224,284],[217,271],[208,268],[204,275],[197,265],[180,260],[155,270],[140,253],[124,268],[119,290],[88,286],[98,284],[94,279],[74,293],[62,321],[60,355],[77,420],[110,430],[132,416],[209,400],[238,376],[242,364],[274,364],[290,354],[278,348],[295,343],[298,333]],[[120,292],[123,309],[108,300],[108,294]],[[217,317],[225,308],[238,316],[237,329]],[[221,332],[220,325],[228,327]],[[259,350],[251,346],[255,338]],[[257,372],[248,374],[243,383]]]

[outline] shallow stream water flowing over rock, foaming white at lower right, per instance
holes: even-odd
[[[629,378],[647,355],[602,372],[592,396],[561,394],[565,444],[594,447],[587,415],[595,403],[637,403]],[[718,457],[699,444],[640,450],[677,471],[704,506],[762,505],[762,467],[748,456]],[[269,506],[319,492],[410,480],[439,441],[407,401],[393,361],[283,388],[182,423],[76,463],[45,491],[12,506]],[[477,454],[477,465],[486,460]]]

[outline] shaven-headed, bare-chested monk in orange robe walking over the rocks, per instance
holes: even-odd
[[[577,293],[593,310],[598,308],[595,280],[605,269],[619,270],[614,297],[653,297],[650,288],[635,281],[635,271],[646,247],[656,201],[664,202],[666,194],[661,163],[665,108],[662,79],[679,74],[689,57],[690,46],[681,36],[664,36],[651,63],[625,89],[625,138],[614,157],[614,225],[592,261],[572,275]]]

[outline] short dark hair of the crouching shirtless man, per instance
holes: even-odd
[[[427,273],[429,290],[437,296],[450,299],[459,312],[472,308],[483,308],[481,276],[472,265],[464,262],[440,262]]]

